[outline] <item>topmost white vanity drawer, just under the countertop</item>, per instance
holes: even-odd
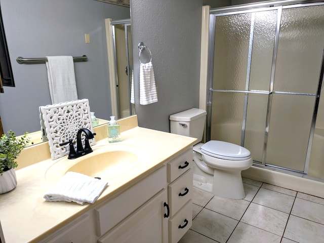
[[[192,168],[192,147],[168,163],[168,182],[171,183]]]

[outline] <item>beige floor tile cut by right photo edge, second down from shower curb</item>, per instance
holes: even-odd
[[[292,215],[324,224],[324,205],[296,198]]]

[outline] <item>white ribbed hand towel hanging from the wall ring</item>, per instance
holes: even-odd
[[[152,62],[140,64],[140,104],[157,102],[157,92]]]

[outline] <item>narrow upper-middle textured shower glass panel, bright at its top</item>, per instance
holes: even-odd
[[[276,20],[276,10],[255,13],[249,90],[269,90]]]

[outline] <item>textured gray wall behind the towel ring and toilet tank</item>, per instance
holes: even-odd
[[[135,94],[139,97],[139,42],[152,53],[158,102],[140,105],[140,127],[170,132],[169,115],[199,105],[202,0],[131,1]]]

